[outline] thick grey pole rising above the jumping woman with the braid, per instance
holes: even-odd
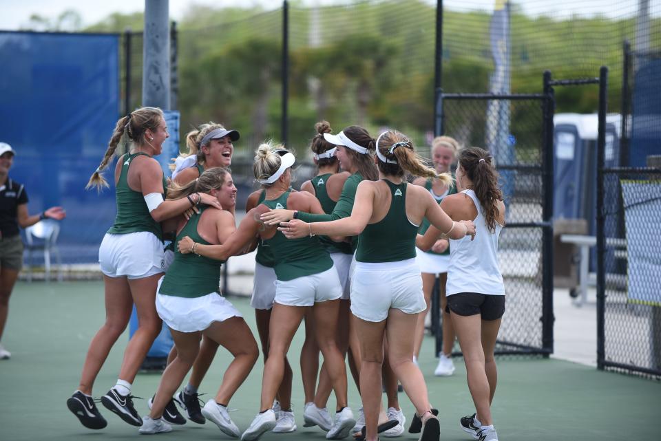
[[[143,106],[170,108],[169,1],[145,0]]]

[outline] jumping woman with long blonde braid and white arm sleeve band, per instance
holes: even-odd
[[[220,208],[216,197],[205,193],[182,200],[163,200],[165,178],[153,157],[160,155],[167,137],[160,109],[142,107],[120,118],[101,164],[87,183],[87,188],[108,186],[100,173],[120,142],[129,144],[129,153],[121,155],[115,166],[117,215],[98,250],[105,286],[105,324],[90,343],[78,390],[67,400],[69,410],[89,429],[103,429],[107,424],[94,405],[92,386],[110,349],[129,323],[134,304],[138,330],[125,349],[117,384],[101,402],[125,422],[143,424],[133,406],[131,386],[161,329],[155,303],[156,284],[165,266],[159,222],[200,203]]]

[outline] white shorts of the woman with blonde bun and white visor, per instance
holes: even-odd
[[[342,297],[337,270],[330,268],[324,272],[297,277],[288,281],[275,282],[275,302],[287,306],[312,306],[327,300]]]

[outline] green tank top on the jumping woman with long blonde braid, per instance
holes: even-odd
[[[151,156],[141,152],[133,153],[132,155],[123,155],[123,157],[120,158],[124,163],[122,164],[122,172],[119,175],[119,181],[117,182],[115,189],[117,214],[115,216],[115,222],[108,230],[108,233],[124,235],[147,231],[149,233],[154,233],[154,235],[162,241],[162,229],[160,228],[160,224],[149,214],[149,208],[147,208],[147,202],[145,202],[143,193],[132,190],[131,187],[129,187],[129,166],[131,166],[133,160],[139,155],[145,155],[151,158]],[[165,176],[163,176],[164,191],[166,188],[167,181],[165,180]]]

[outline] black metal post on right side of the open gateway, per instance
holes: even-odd
[[[608,109],[608,67],[599,69],[599,122],[597,134],[597,369],[604,369],[605,357],[605,306],[606,237],[604,222],[604,166],[606,150],[606,111]]]

